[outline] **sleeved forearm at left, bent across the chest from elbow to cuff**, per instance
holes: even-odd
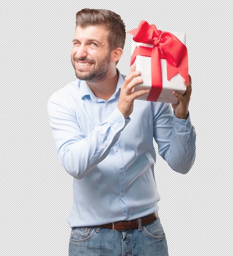
[[[66,141],[60,146],[59,161],[70,175],[81,179],[108,155],[119,136],[120,132],[107,122],[98,124],[88,137]]]

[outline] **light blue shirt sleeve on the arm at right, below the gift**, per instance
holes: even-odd
[[[190,115],[178,119],[172,115],[169,104],[164,104],[154,118],[154,138],[158,153],[169,166],[179,173],[187,173],[193,166],[196,156],[196,132]]]

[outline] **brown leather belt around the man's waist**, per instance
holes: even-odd
[[[142,227],[155,221],[158,218],[158,212],[149,214],[145,217],[141,218]],[[123,231],[123,230],[130,230],[130,229],[136,229],[138,228],[138,219],[136,220],[129,220],[129,221],[118,221],[118,222],[112,222],[108,224],[101,225],[101,227],[106,229],[113,229],[116,231]]]

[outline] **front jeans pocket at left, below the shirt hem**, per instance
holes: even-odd
[[[70,234],[71,242],[88,240],[94,233],[94,227],[73,227]]]

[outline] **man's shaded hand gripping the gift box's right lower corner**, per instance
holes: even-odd
[[[189,101],[190,101],[190,96],[192,92],[191,76],[189,76],[189,83],[185,81],[184,85],[187,87],[187,90],[183,95],[179,94],[176,91],[172,92],[173,95],[176,96],[176,98],[179,100],[179,102],[177,104],[171,104],[171,106],[175,111],[176,117],[180,119],[188,118]]]

